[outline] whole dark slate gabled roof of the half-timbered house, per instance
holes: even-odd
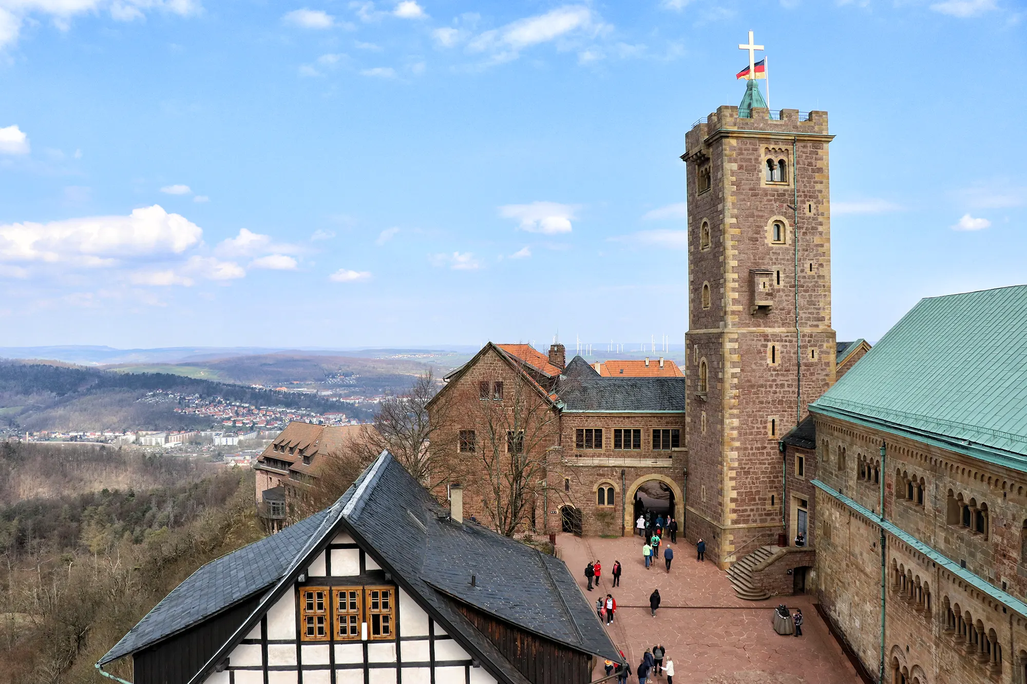
[[[500,682],[527,684],[527,679],[460,612],[461,605],[572,649],[620,659],[562,561],[478,525],[449,521],[447,511],[428,491],[390,454],[382,452],[330,508],[197,570],[98,666],[142,650],[241,599],[263,593],[246,621],[191,680],[201,681],[341,531],[351,534]],[[264,553],[269,553],[273,562],[259,558]],[[265,567],[248,574],[248,566],[254,564]],[[472,573],[480,578],[474,587],[469,586]],[[199,598],[190,599],[191,594]],[[201,603],[203,608],[190,609],[193,603]]]

